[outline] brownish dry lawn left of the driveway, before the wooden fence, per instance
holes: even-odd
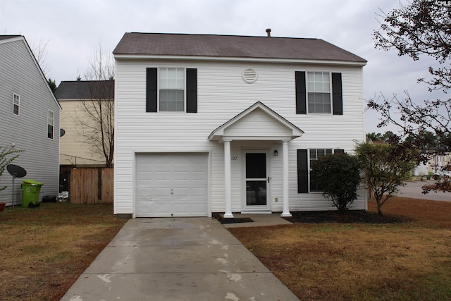
[[[0,300],[60,300],[125,222],[105,204],[0,212]]]

